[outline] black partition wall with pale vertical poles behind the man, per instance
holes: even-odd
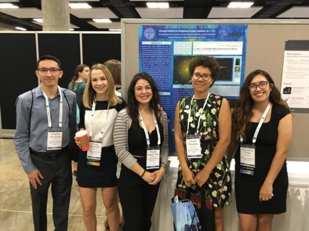
[[[35,88],[36,61],[42,55],[62,64],[61,87],[67,88],[75,66],[121,60],[120,32],[0,32],[0,137],[12,138],[16,129],[15,101]]]

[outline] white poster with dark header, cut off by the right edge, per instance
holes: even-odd
[[[309,113],[309,40],[286,41],[281,96],[291,112]]]

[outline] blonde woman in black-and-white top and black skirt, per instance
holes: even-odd
[[[95,64],[90,70],[80,108],[79,130],[90,136],[90,149],[80,150],[77,182],[87,231],[96,230],[96,191],[101,188],[103,203],[109,218],[110,231],[119,230],[119,207],[116,188],[117,157],[112,131],[118,112],[125,107],[115,95],[109,69]],[[75,139],[76,144],[80,143]]]

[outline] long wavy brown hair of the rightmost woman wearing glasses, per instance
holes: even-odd
[[[245,132],[247,126],[249,125],[249,120],[253,116],[252,108],[254,105],[254,101],[250,96],[248,86],[252,79],[258,74],[263,75],[268,81],[269,87],[271,89],[269,101],[273,104],[289,108],[288,104],[283,99],[281,99],[280,91],[274,85],[273,79],[270,74],[268,74],[264,70],[252,71],[247,76],[244,84],[240,89],[239,98],[236,100],[234,111],[232,114],[233,131],[236,134],[237,140],[239,139],[241,134],[243,135],[243,137],[245,137]]]

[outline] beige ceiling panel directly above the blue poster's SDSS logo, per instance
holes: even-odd
[[[213,7],[207,18],[250,18],[262,8],[262,6],[250,8]]]

